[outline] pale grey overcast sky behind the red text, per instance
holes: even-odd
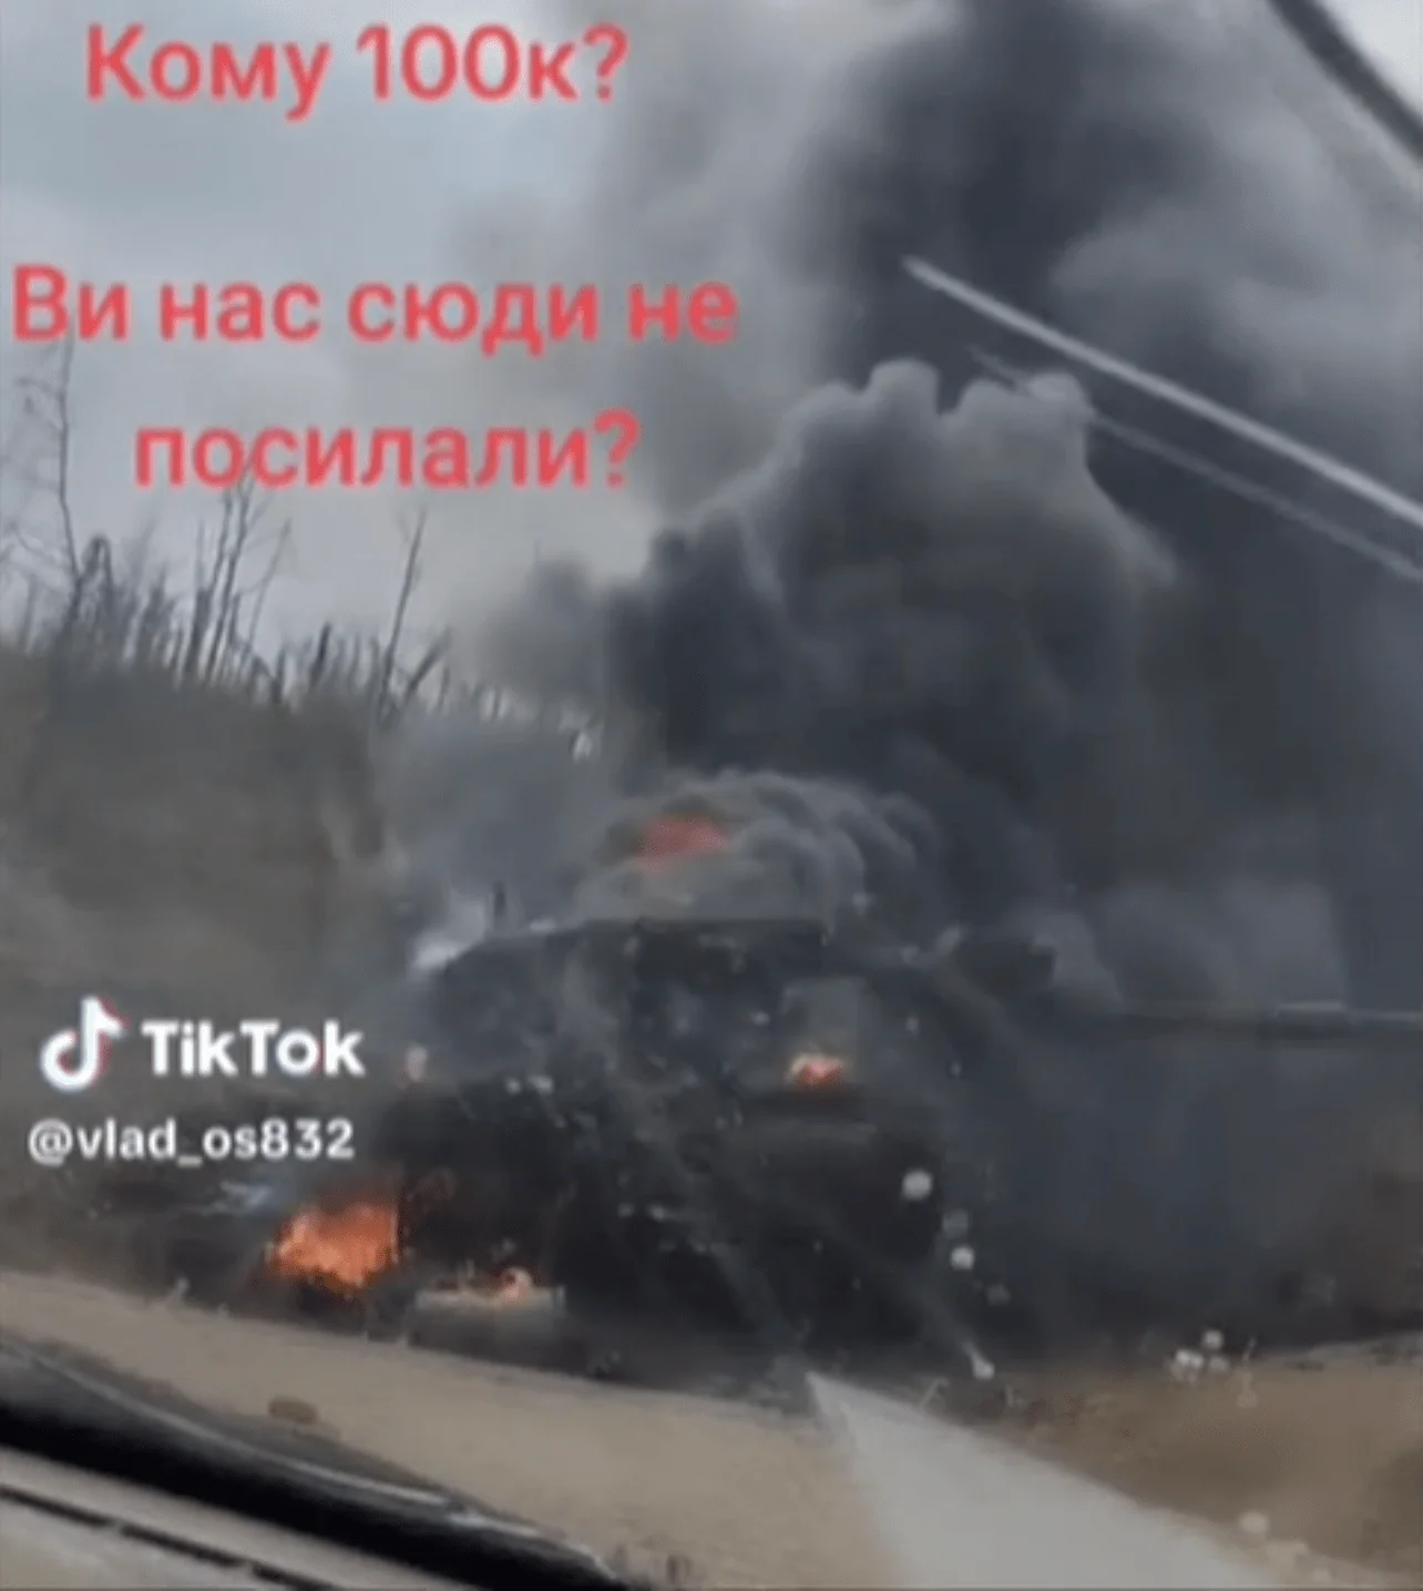
[[[677,3],[684,10],[719,6],[735,25],[720,0]],[[1337,0],[1337,6],[1423,100],[1423,3]],[[588,21],[596,21],[595,10],[582,8]],[[763,0],[765,18],[782,10]],[[841,14],[843,0],[835,6],[825,0],[820,14],[832,11]],[[377,13],[396,29],[440,21],[467,30],[507,19],[550,37],[556,27],[541,13],[541,0],[383,0],[382,6],[364,0],[0,0],[6,296],[17,259],[54,263],[75,278],[124,280],[142,302],[156,296],[162,280],[312,280],[339,293],[372,278],[437,282],[464,274],[474,280],[471,272],[482,264],[496,270],[534,258],[510,234],[556,226],[569,194],[587,181],[607,113],[458,99],[440,107],[375,105],[353,43]],[[329,40],[337,46],[335,64],[315,115],[299,126],[261,105],[89,105],[84,33],[95,21],[113,32],[143,22],[154,40],[197,45]],[[680,62],[682,70],[696,67],[693,59]],[[636,70],[634,40],[628,72]],[[8,336],[8,312],[5,320]],[[504,360],[512,363],[506,368]],[[612,391],[601,399],[588,382],[550,383],[547,372],[520,369],[518,353],[504,360],[491,369],[439,347],[355,350],[339,331],[297,348],[169,347],[145,326],[127,345],[86,347],[76,368],[81,527],[124,536],[156,517],[167,554],[191,547],[194,517],[210,504],[154,501],[132,487],[132,434],[145,423],[189,431],[223,423],[256,430],[448,422],[475,428],[555,418],[560,409],[568,423],[577,423],[604,401],[617,401]],[[14,368],[17,355],[8,363]],[[440,619],[442,608],[507,587],[536,549],[577,547],[604,565],[636,557],[650,527],[636,495],[579,498],[440,501],[428,616]],[[328,614],[382,619],[399,566],[394,515],[402,506],[413,504],[391,492],[296,498],[291,511],[300,549],[278,609],[283,624],[304,627]]]

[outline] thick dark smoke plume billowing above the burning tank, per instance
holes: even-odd
[[[534,915],[798,907],[916,942],[1029,924],[1138,998],[1423,1006],[1417,587],[1094,418],[1378,527],[903,270],[930,259],[1423,495],[1420,197],[1264,18],[1223,25],[984,0],[863,41],[781,224],[731,248],[828,305],[824,385],[747,457],[735,368],[688,399],[700,452],[661,380],[646,445],[674,523],[644,571],[542,571],[487,640],[514,686],[579,702],[601,749],[558,791],[539,775],[533,807],[502,772],[529,756],[509,725],[412,756],[407,778],[467,788],[421,831],[445,877],[498,877]],[[981,379],[983,353],[1026,379]],[[735,458],[704,492],[706,460]],[[652,877],[599,851],[658,808],[720,815],[727,850]],[[1142,1064],[1108,1083],[1062,1056],[1033,1219],[1177,1305],[1318,1260],[1423,1076]]]

